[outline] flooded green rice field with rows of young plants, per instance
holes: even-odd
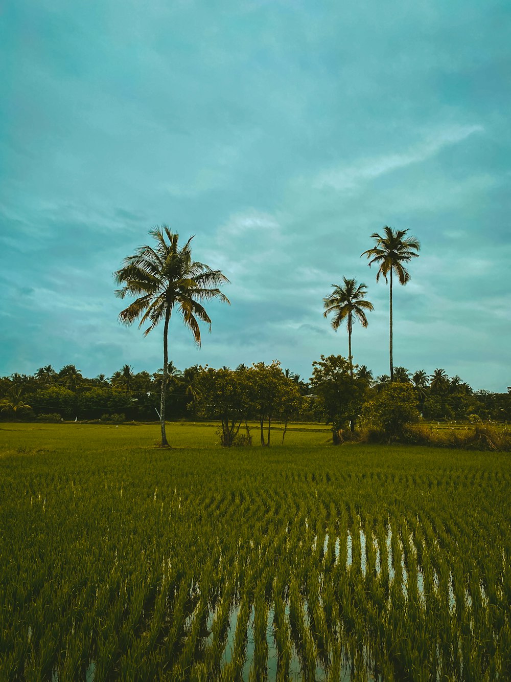
[[[511,679],[509,454],[293,433],[3,425],[0,679]]]

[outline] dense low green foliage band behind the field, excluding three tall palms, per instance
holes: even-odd
[[[374,379],[365,366],[355,365],[353,377],[350,370],[349,361],[341,355],[321,356],[313,363],[313,376],[306,383],[290,370],[282,370],[277,361],[256,363],[250,368],[242,365],[236,370],[193,366],[183,371],[171,361],[166,372],[167,415],[170,419],[222,419],[225,413],[231,420],[235,417],[236,424],[245,417],[266,422],[266,430],[268,421],[276,418],[324,420],[332,424],[334,432],[346,430],[350,423],[360,428],[371,421],[361,418],[369,415],[365,404],[378,402],[378,396],[391,382],[386,375]],[[219,385],[213,389],[211,382],[205,383],[204,372],[209,372],[210,379],[215,376],[215,381],[222,376],[232,379],[236,384],[237,397],[232,396],[236,407],[233,404],[226,411],[222,402],[226,396],[221,398]],[[128,421],[156,420],[162,381],[161,369],[153,374],[134,373],[131,366],[124,365],[111,377],[99,374],[89,379],[74,365],[66,365],[59,372],[46,366],[32,376],[12,374],[0,379],[0,419],[53,421],[58,415],[64,420],[105,421],[115,414]],[[474,391],[459,376],[449,377],[442,369],[429,376],[423,370],[409,372],[403,367],[394,368],[393,383],[409,387],[420,416],[435,423],[511,421],[511,389],[507,393]],[[263,437],[266,443],[267,436]]]

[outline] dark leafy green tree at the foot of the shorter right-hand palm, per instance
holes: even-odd
[[[350,375],[351,364],[342,355],[322,355],[312,368],[311,387],[332,423],[335,442],[348,426],[354,431],[367,398],[367,381]]]

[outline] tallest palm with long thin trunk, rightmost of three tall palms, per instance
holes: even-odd
[[[384,227],[384,237],[377,232],[371,235],[371,239],[376,240],[376,246],[372,249],[367,249],[362,256],[370,258],[369,267],[373,263],[380,265],[380,269],[376,273],[376,281],[380,280],[380,276],[388,282],[388,274],[390,273],[390,336],[389,336],[389,355],[390,355],[390,381],[394,381],[394,366],[392,364],[392,273],[397,275],[399,284],[406,284],[410,278],[409,272],[403,266],[403,263],[408,263],[412,258],[418,257],[420,251],[420,243],[415,237],[405,237],[407,230],[392,230],[387,225]]]

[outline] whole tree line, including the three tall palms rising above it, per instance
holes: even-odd
[[[418,257],[420,243],[407,237],[407,230],[385,226],[383,234],[373,233],[374,246],[361,254],[369,259],[369,267],[378,265],[380,277],[389,286],[389,374],[373,377],[367,366],[353,362],[352,328],[358,320],[367,327],[367,313],[373,304],[366,299],[367,286],[354,278],[343,278],[343,284],[332,284],[333,291],[323,299],[324,316],[333,314],[332,327],[345,322],[348,334],[348,357],[321,356],[313,362],[309,382],[300,380],[290,370],[282,370],[278,361],[271,364],[241,365],[236,370],[219,370],[193,366],[181,372],[168,360],[168,328],[173,312],[200,346],[199,322],[211,331],[204,303],[219,299],[230,303],[219,286],[228,279],[219,270],[193,261],[190,237],[184,246],[179,235],[167,226],[157,227],[149,235],[152,245],[144,245],[124,259],[114,273],[120,288],[118,297],[133,298],[119,313],[119,321],[131,325],[138,321],[145,327],[144,336],[163,323],[163,366],[153,374],[134,374],[124,365],[110,378],[98,374],[87,379],[74,365],[59,372],[51,366],[37,370],[33,376],[12,374],[0,380],[0,410],[5,417],[21,415],[48,419],[119,420],[153,419],[161,424],[161,445],[167,446],[166,416],[193,415],[221,422],[221,442],[232,445],[249,443],[252,434],[248,422],[260,425],[261,445],[269,445],[271,423],[279,419],[285,428],[290,419],[326,420],[334,434],[348,428],[354,432],[364,423],[386,424],[386,430],[399,429],[404,421],[424,419],[456,419],[508,421],[510,393],[474,392],[459,376],[448,377],[437,368],[431,376],[424,370],[409,372],[393,364],[392,286],[394,278],[404,285],[409,281],[405,265]],[[49,416],[48,416],[49,415]],[[243,425],[245,432],[243,432]],[[240,430],[242,433],[240,433]]]

